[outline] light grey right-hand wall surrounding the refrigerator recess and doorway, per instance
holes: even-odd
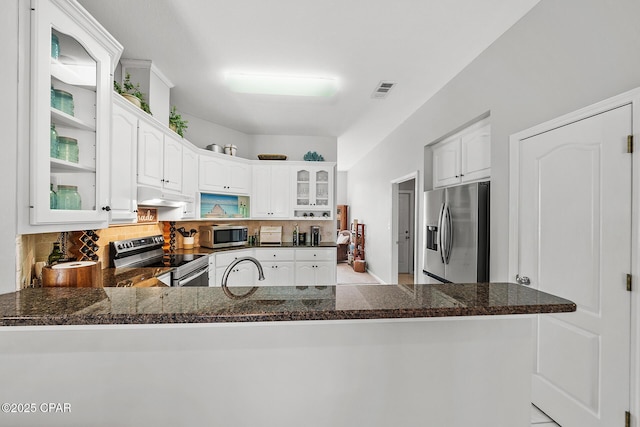
[[[491,279],[507,280],[509,135],[640,86],[637,16],[637,0],[618,0],[615,8],[600,0],[542,0],[355,165],[350,215],[367,224],[372,273],[390,280],[390,181],[415,170],[427,178],[424,146],[489,111]]]

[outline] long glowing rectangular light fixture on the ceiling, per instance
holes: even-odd
[[[337,80],[327,77],[229,73],[226,83],[233,92],[260,95],[332,97],[338,91]]]

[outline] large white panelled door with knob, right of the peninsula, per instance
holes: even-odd
[[[532,400],[564,427],[624,425],[630,404],[631,124],[627,105],[512,146],[518,273],[577,304],[536,325]]]

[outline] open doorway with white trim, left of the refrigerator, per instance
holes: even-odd
[[[392,266],[394,283],[412,286],[416,283],[416,235],[418,218],[417,172],[392,181]]]

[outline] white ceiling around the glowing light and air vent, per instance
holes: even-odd
[[[79,0],[175,87],[178,110],[247,134],[335,136],[349,169],[539,0]],[[227,71],[337,77],[332,99],[230,92]],[[371,94],[397,83],[386,99]],[[188,137],[188,135],[187,135]]]

